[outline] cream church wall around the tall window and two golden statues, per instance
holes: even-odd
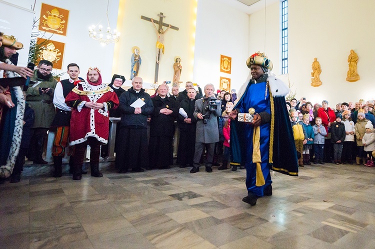
[[[375,33],[370,31],[375,25],[374,8],[374,1],[288,0],[288,75],[297,97],[304,96],[313,103],[326,99],[331,107],[337,102],[375,97],[372,70],[369,69],[375,56]],[[273,61],[273,72],[279,74],[279,2],[267,6],[266,13],[274,18],[271,17],[272,22],[266,21],[265,51]],[[253,48],[254,45],[264,44],[264,9],[250,15],[249,36],[251,52],[258,49]],[[346,81],[350,49],[359,57],[357,72],[360,79],[356,82]],[[318,87],[310,85],[314,57],[322,70],[322,85]]]

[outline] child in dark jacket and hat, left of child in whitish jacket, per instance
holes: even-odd
[[[330,126],[330,142],[333,143],[333,160],[334,164],[336,165],[343,164],[341,162],[341,153],[343,141],[345,140],[345,125],[341,122],[341,119],[341,113],[336,112],[336,121],[334,121]]]

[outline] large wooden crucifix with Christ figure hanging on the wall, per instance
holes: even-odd
[[[160,12],[159,14],[157,14],[159,16],[159,20],[154,20],[152,18],[149,18],[149,17],[146,17],[146,16],[143,16],[141,15],[140,18],[143,19],[143,20],[147,20],[147,21],[150,21],[152,22],[152,24],[154,25],[156,31],[157,31],[157,41],[156,41],[156,63],[155,63],[155,76],[154,76],[154,82],[157,82],[157,78],[158,78],[158,74],[159,74],[159,61],[160,61],[160,57],[161,57],[161,53],[164,53],[164,33],[169,29],[174,29],[174,30],[178,30],[178,27],[175,27],[175,26],[172,26],[170,24],[167,24],[165,22],[163,22],[163,18],[166,17],[165,15],[163,15],[162,12]],[[156,24],[158,24],[158,27],[156,28]],[[163,30],[162,26],[165,26],[167,27],[165,30]]]

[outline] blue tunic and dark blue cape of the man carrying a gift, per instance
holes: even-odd
[[[239,113],[248,113],[249,108],[252,107],[260,116],[262,116],[261,112],[269,113],[271,120],[267,122],[263,120],[262,116],[262,123],[258,130],[250,124],[238,122],[237,120],[233,120],[230,127],[231,163],[244,163],[246,166],[247,190],[257,196],[263,196],[263,190],[272,183],[269,174],[270,166],[275,171],[298,175],[297,156],[285,106],[285,98],[283,95],[270,96],[272,87],[268,87],[267,76],[267,74],[264,74],[256,83],[251,80],[234,108]],[[276,95],[280,91],[273,89],[271,93]],[[256,129],[255,132],[254,129]],[[255,150],[253,146],[256,144],[253,140],[254,135],[254,140],[258,139],[259,141],[259,149]],[[256,162],[254,162],[254,151],[255,157],[256,155],[260,156],[261,171],[258,171],[258,173],[264,178],[262,185],[256,184],[259,176],[257,176],[258,169]],[[272,155],[270,155],[270,152]]]

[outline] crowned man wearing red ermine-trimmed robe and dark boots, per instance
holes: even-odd
[[[79,82],[65,98],[72,107],[70,145],[75,145],[73,180],[80,180],[84,152],[90,145],[91,176],[102,177],[99,171],[100,145],[108,142],[109,109],[118,106],[116,93],[101,83],[100,70],[88,68],[87,82]]]

